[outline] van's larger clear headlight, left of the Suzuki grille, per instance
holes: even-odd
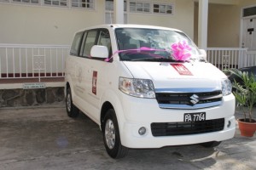
[[[119,77],[119,90],[138,98],[155,98],[151,80]]]

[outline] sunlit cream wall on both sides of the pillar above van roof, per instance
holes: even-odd
[[[193,39],[194,0],[154,2],[174,4],[174,14],[128,12],[128,23],[173,27]],[[105,23],[104,1],[96,0],[95,5],[90,10],[0,3],[0,43],[70,44],[75,31]]]

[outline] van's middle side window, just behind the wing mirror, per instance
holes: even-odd
[[[83,57],[90,57],[90,49],[96,44],[97,31],[89,31],[84,43]]]

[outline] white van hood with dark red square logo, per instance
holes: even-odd
[[[123,61],[134,78],[150,79],[154,88],[218,88],[222,71],[205,62],[167,63]]]

